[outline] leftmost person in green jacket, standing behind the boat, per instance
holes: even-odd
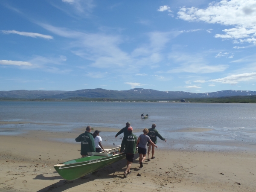
[[[76,137],[76,142],[81,142],[81,156],[85,157],[89,152],[95,152],[95,144],[93,134],[91,134],[92,128],[87,126],[86,131]]]

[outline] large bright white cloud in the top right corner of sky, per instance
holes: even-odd
[[[235,39],[234,42],[256,44],[256,1],[255,0],[221,0],[212,2],[206,9],[183,7],[177,13],[178,18],[187,21],[204,21],[235,26],[224,29],[224,34],[216,34],[215,38]],[[236,41],[238,40],[238,41]]]

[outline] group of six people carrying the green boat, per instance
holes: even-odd
[[[81,142],[81,156],[85,157],[88,155],[89,152],[102,152],[102,150],[105,152],[105,150],[102,147],[101,141],[102,138],[99,137],[99,131],[96,130],[94,133],[91,133],[91,127],[87,126],[86,131],[83,134],[80,134],[76,138],[76,142]],[[125,157],[127,160],[127,167],[124,172],[124,177],[127,177],[128,174],[131,173],[130,168],[131,164],[134,160],[134,155],[136,153],[136,150],[138,148],[138,153],[140,155],[139,162],[140,162],[140,168],[143,168],[143,161],[146,158],[147,154],[147,145],[148,145],[148,161],[150,161],[150,152],[152,149],[151,159],[154,159],[154,148],[157,148],[157,137],[160,138],[160,140],[166,141],[165,138],[163,138],[158,131],[156,130],[156,124],[153,124],[151,128],[143,129],[143,134],[141,134],[138,138],[136,135],[132,133],[133,128],[131,127],[131,123],[127,122],[126,126],[122,128],[115,137],[117,137],[120,134],[124,134],[124,137],[122,139],[122,144],[120,148],[120,152],[125,150]]]

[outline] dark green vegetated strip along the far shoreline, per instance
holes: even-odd
[[[256,103],[256,96],[230,96],[218,98],[180,98],[180,99],[108,99],[108,98],[85,98],[72,97],[68,99],[17,99],[17,98],[0,98],[0,101],[37,101],[37,102],[165,102],[177,103],[181,99],[190,103]]]

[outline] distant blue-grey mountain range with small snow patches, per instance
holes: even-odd
[[[83,89],[76,91],[44,91],[44,90],[12,90],[0,91],[0,98],[17,99],[68,99],[108,98],[108,99],[188,99],[206,97],[252,96],[256,91],[222,90],[212,93],[190,93],[184,91],[158,91],[152,89],[135,88],[131,90]]]

